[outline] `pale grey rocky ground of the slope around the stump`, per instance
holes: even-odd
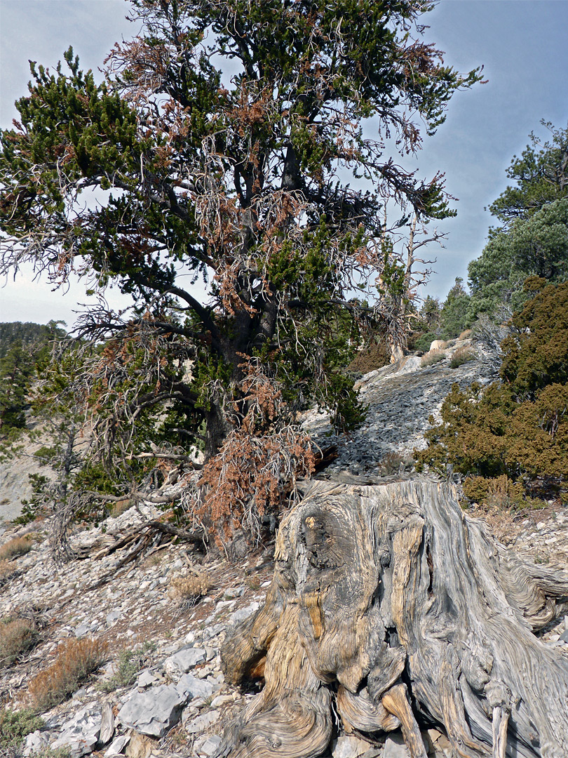
[[[360,381],[370,413],[364,428],[336,437],[329,421],[311,412],[307,428],[322,446],[335,443],[338,456],[323,471],[326,478],[379,481],[386,453],[400,456],[398,475],[411,475],[404,462],[420,446],[428,416],[436,415],[453,381],[489,381],[484,360],[451,369],[448,358],[423,368],[410,356]],[[392,458],[392,460],[398,460]],[[384,474],[385,472],[382,471]],[[394,475],[390,472],[388,476]],[[519,514],[474,512],[487,518],[499,539],[539,563],[568,567],[568,509],[553,503],[543,511]],[[235,688],[223,681],[220,644],[227,630],[263,603],[273,572],[270,546],[231,565],[201,556],[188,543],[149,543],[133,562],[125,558],[133,543],[113,552],[124,534],[159,512],[153,506],[131,508],[98,528],[77,531],[73,548],[83,555],[56,565],[48,543],[50,524],[14,528],[5,524],[2,545],[29,534],[32,549],[2,563],[0,619],[34,619],[39,640],[30,652],[0,669],[0,702],[20,709],[29,702],[33,677],[50,666],[73,639],[106,645],[105,663],[58,706],[43,713],[45,725],[25,743],[25,753],[70,756],[211,756],[223,726],[255,695],[254,687]],[[183,592],[197,582],[197,598]],[[193,586],[193,585],[192,585]],[[202,593],[202,594],[200,594]],[[545,644],[568,656],[568,617],[545,629]],[[444,735],[424,735],[429,753],[450,758]],[[0,748],[7,756],[12,748]],[[54,754],[54,753],[51,753]],[[341,729],[329,749],[333,758],[407,758],[400,735],[384,743],[345,735]]]

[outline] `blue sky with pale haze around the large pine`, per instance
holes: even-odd
[[[28,59],[53,66],[72,44],[83,67],[95,69],[117,39],[136,33],[127,10],[123,0],[0,0],[0,126],[10,125],[14,99],[27,92]],[[432,248],[435,274],[423,290],[444,299],[482,251],[492,224],[484,208],[507,186],[513,155],[531,131],[546,139],[542,118],[566,127],[568,0],[441,0],[423,20],[426,40],[448,64],[460,71],[483,64],[488,79],[454,96],[446,123],[410,161],[425,176],[444,171],[459,199],[457,218],[439,224],[448,240],[445,249]],[[0,321],[72,324],[78,302],[86,302],[80,287],[51,293],[24,271],[0,289]],[[111,293],[109,302],[120,298]]]

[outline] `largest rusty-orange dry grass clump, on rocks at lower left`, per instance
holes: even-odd
[[[83,637],[62,644],[55,661],[28,685],[33,706],[45,711],[76,691],[80,682],[108,658],[108,643]]]

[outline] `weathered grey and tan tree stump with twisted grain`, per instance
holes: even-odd
[[[568,659],[534,632],[568,575],[524,562],[463,515],[450,485],[315,482],[282,522],[267,600],[223,645],[264,689],[219,756],[319,756],[346,731],[442,728],[460,758],[566,758]]]

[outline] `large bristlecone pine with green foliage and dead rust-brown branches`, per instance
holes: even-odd
[[[342,367],[389,302],[386,199],[393,228],[450,212],[442,177],[403,171],[386,140],[420,149],[419,127],[433,133],[479,70],[457,74],[423,41],[429,0],[130,7],[139,36],[115,45],[103,83],[72,49],[54,72],[32,66],[2,133],[0,270],[31,261],[133,297],[83,316],[98,349],[67,377],[93,470],[120,494],[136,456],[200,444],[201,517],[254,534],[313,466],[295,409],[360,419]]]

